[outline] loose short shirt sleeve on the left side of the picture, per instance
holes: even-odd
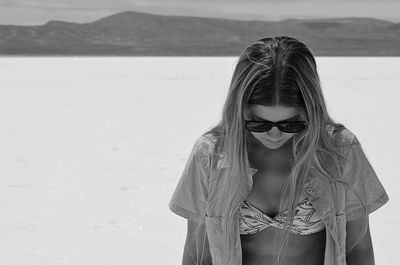
[[[208,194],[209,154],[205,137],[197,139],[169,202],[169,209],[186,219],[204,222]]]

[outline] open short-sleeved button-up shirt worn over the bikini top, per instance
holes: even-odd
[[[343,167],[342,177],[346,178],[358,194],[365,195],[368,213],[377,210],[389,198],[368,162],[358,139],[348,129],[333,133],[333,127],[327,126],[327,130],[331,137],[335,137],[338,150],[351,162]],[[217,171],[211,165],[217,165],[217,168],[227,167],[223,156],[215,158],[212,155],[214,147],[215,139],[210,134],[204,134],[196,140],[169,202],[169,209],[184,218],[205,223],[214,265],[242,265],[239,211],[236,211],[233,220],[229,220],[219,214],[222,212],[223,205],[210,208],[206,203],[207,196],[216,194],[213,192],[215,187],[210,184],[210,179],[218,176],[215,176]],[[218,161],[213,161],[213,159],[218,159]],[[249,193],[253,185],[252,176],[257,169],[248,168],[247,170],[249,173],[247,193]],[[332,189],[330,185],[334,185],[334,188]],[[332,191],[336,191],[335,194]],[[362,204],[356,195],[343,185],[335,185],[325,178],[317,178],[313,174],[306,179],[303,192],[326,227],[324,265],[346,265],[346,222],[363,217]],[[332,200],[336,202],[335,207],[331,206]],[[201,213],[204,211],[207,213],[205,220],[201,219]],[[225,222],[230,222],[229,225],[233,226],[234,231],[228,235],[232,237],[230,242],[233,242],[233,245],[228,246],[231,257],[229,264],[222,264],[223,225],[226,224]]]

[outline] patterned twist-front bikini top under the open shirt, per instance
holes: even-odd
[[[244,201],[239,207],[240,234],[254,234],[269,226],[279,229],[284,228],[288,211],[279,213],[274,218],[261,212],[249,201]],[[288,220],[289,221],[289,220]],[[296,208],[293,226],[290,233],[296,235],[309,235],[319,232],[325,228],[324,223],[316,214],[311,202],[305,198]]]

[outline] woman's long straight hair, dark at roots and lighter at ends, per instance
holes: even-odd
[[[232,219],[244,199],[247,186],[244,176],[248,175],[246,168],[249,167],[250,135],[244,126],[243,113],[249,104],[294,107],[308,123],[307,130],[293,136],[294,162],[282,191],[282,196],[289,200],[286,205],[281,200],[280,210],[288,209],[291,218],[274,238],[274,264],[280,265],[286,261],[295,208],[311,166],[319,177],[350,186],[336,177],[341,174],[339,160],[346,158],[341,157],[326,130],[327,125],[335,130],[341,130],[344,126],[334,122],[328,114],[314,56],[304,43],[292,37],[277,36],[257,40],[248,46],[234,69],[222,119],[207,132],[218,139],[215,152],[225,154],[229,164],[228,169],[218,176],[215,201],[209,200],[207,203],[223,202],[223,215]],[[335,208],[335,202],[331,203]],[[365,202],[362,204],[366,212]],[[228,235],[233,232],[230,224],[225,222],[224,265],[231,263],[231,257],[228,256],[228,246],[232,246]],[[197,257],[201,257],[201,254],[197,253]]]

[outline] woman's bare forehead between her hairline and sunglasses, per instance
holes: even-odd
[[[268,121],[281,121],[293,118],[299,114],[296,108],[285,106],[263,106],[257,104],[248,105],[247,114],[253,114],[263,120]]]

